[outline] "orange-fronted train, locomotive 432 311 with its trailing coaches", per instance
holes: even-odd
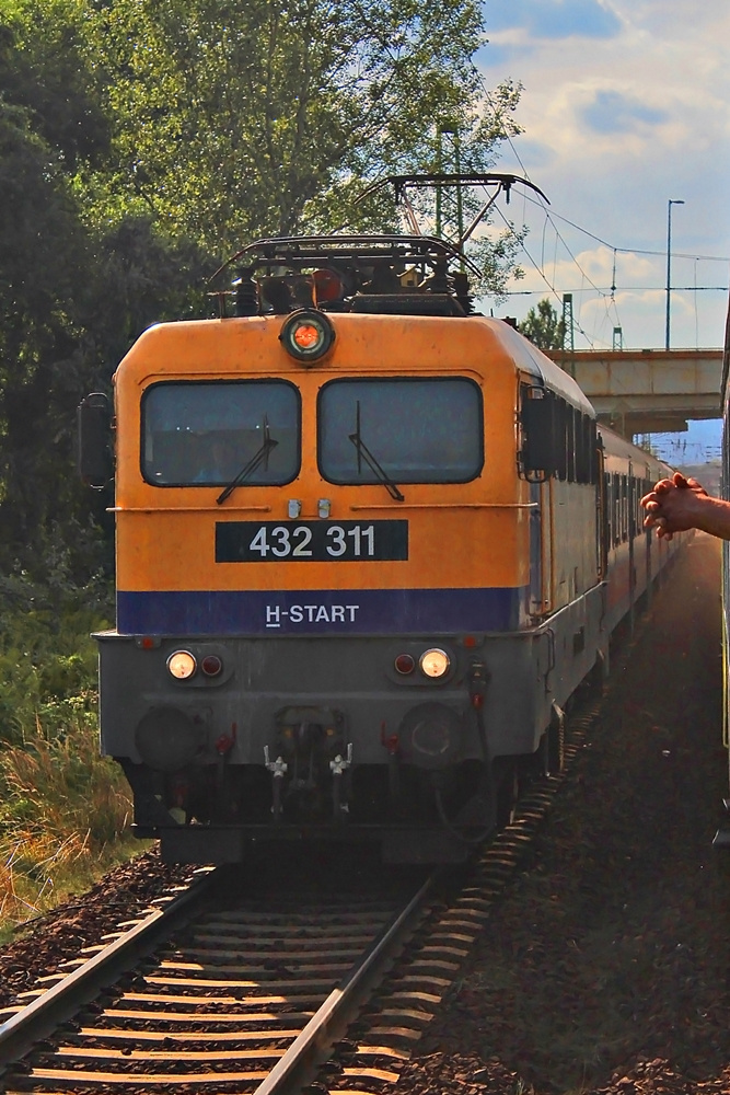
[[[236,262],[218,318],[150,327],[114,407],[79,408],[92,485],[115,438],[103,752],[170,862],[463,860],[524,765],[559,766],[566,704],[677,550],[639,507],[668,469],[474,311],[442,239]]]

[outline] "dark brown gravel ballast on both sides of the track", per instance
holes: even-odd
[[[592,744],[392,1095],[730,1093],[719,545],[614,655]],[[0,1006],[189,877],[146,853],[0,948]]]

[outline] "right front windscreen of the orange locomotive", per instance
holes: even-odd
[[[317,411],[331,483],[466,483],[482,471],[482,391],[466,378],[333,380]]]

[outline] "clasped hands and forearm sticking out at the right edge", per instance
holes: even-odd
[[[700,529],[721,540],[730,540],[730,503],[712,498],[695,479],[674,472],[660,480],[641,498],[647,511],[644,526],[671,540],[675,532]]]

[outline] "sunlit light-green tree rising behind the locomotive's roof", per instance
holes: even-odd
[[[114,118],[106,168],[84,176],[92,204],[150,212],[221,256],[259,235],[385,227],[392,208],[352,197],[431,165],[440,118],[457,119],[474,170],[517,131],[518,88],[476,105],[476,0],[115,0],[89,4],[85,26]]]

